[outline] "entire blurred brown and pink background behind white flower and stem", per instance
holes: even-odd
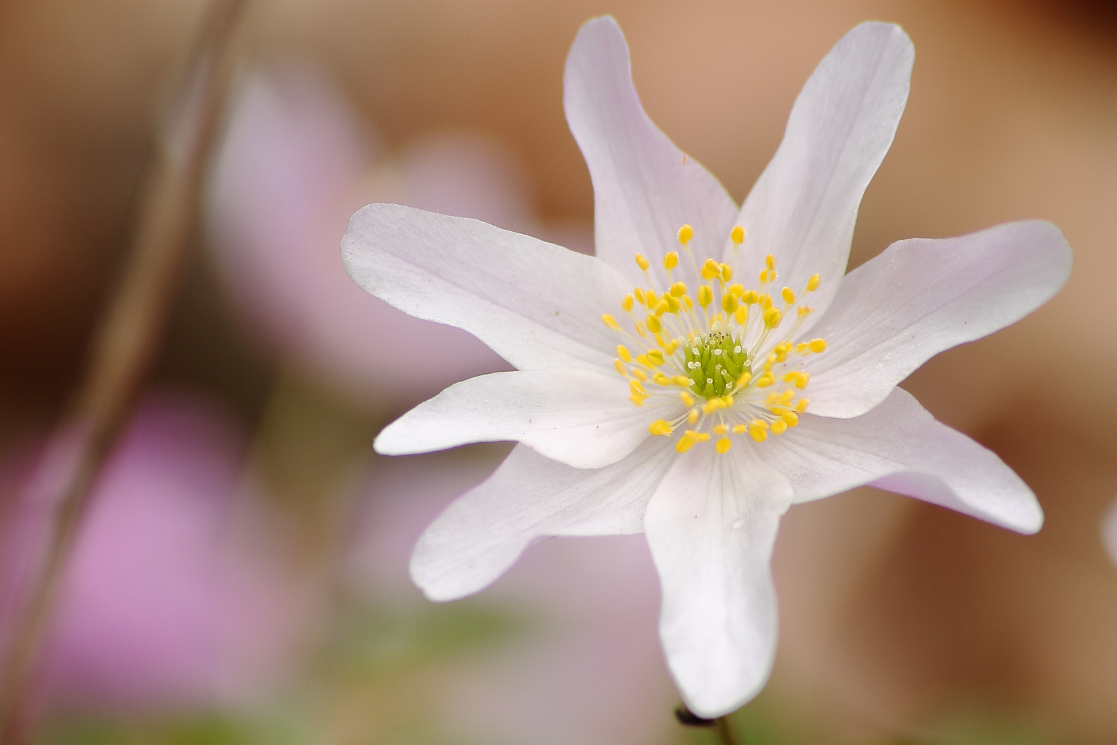
[[[0,1],[0,634],[206,9]],[[1042,532],[872,489],[792,508],[775,672],[735,715],[746,741],[1117,742],[1102,537],[1117,6],[1102,0],[251,4],[155,372],[96,479],[28,684],[29,742],[714,742],[671,714],[642,537],[545,542],[456,603],[410,584],[414,539],[507,447],[386,459],[372,437],[504,363],[364,295],[338,257],[372,201],[592,251],[562,70],[603,12],[651,118],[738,201],[829,48],[861,20],[901,23],[911,96],[851,266],[1024,218],[1056,222],[1076,254],[1054,300],[905,383],[1016,469]]]

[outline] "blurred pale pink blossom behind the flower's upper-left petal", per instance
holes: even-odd
[[[528,231],[526,192],[515,159],[480,135],[386,156],[321,76],[287,65],[241,87],[211,183],[210,242],[235,303],[298,365],[359,399],[419,399],[507,365],[354,285],[341,262],[349,216],[394,201]]]

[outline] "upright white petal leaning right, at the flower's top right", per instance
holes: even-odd
[[[825,309],[846,274],[861,197],[904,114],[914,59],[903,29],[868,22],[819,64],[791,109],[780,150],[741,210],[748,237],[738,276],[755,280],[772,254],[777,281],[795,293],[821,275],[809,304]]]

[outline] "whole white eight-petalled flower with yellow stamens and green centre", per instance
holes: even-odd
[[[477,592],[540,536],[643,532],[668,665],[712,717],[771,669],[768,564],[792,504],[871,484],[1039,529],[1015,474],[896,385],[1050,298],[1071,265],[1059,230],[1018,222],[900,241],[842,276],[913,59],[896,26],[850,31],[738,210],[648,120],[620,29],[599,18],[565,75],[596,258],[393,204],[353,217],[342,248],[357,284],[516,367],[448,388],[376,439],[392,455],[519,443],[419,541],[411,574],[429,598]]]

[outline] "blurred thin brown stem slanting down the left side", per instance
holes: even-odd
[[[213,0],[210,6],[170,115],[157,130],[121,284],[101,318],[88,372],[54,443],[66,441],[68,466],[49,495],[54,514],[45,552],[0,671],[0,736],[6,745],[26,739],[28,723],[22,715],[31,675],[90,487],[160,348],[221,124],[246,8],[247,0]]]

